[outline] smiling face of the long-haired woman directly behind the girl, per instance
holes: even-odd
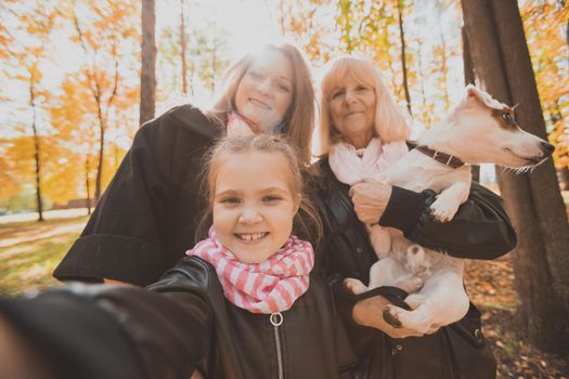
[[[235,106],[255,133],[270,133],[281,123],[293,103],[293,65],[280,51],[267,52],[245,71]]]

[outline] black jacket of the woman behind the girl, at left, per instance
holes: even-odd
[[[139,286],[156,282],[195,245],[204,204],[204,154],[222,129],[191,105],[146,122],[79,239],[53,275],[60,280]]]

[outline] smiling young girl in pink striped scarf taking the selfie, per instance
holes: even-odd
[[[340,351],[347,342],[328,286],[311,274],[312,246],[295,237],[308,226],[299,212],[316,228],[320,222],[302,196],[294,148],[267,135],[222,141],[207,194],[208,238],[150,290],[83,285],[0,302],[51,366],[42,373],[186,379],[197,368],[205,378],[339,378],[352,363]],[[0,377],[14,373],[14,362],[0,364]]]

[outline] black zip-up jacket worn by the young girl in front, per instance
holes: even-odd
[[[60,378],[187,379],[196,367],[208,379],[353,378],[355,357],[318,275],[279,327],[228,302],[215,269],[196,257],[148,289],[80,285],[0,301],[0,312]]]

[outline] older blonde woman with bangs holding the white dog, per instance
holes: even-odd
[[[495,259],[506,253],[515,247],[516,235],[502,199],[473,184],[454,219],[438,223],[429,217],[429,205],[436,198],[431,191],[415,193],[373,180],[350,181],[355,166],[380,171],[408,151],[405,117],[372,63],[354,57],[333,62],[322,79],[320,104],[323,157],[315,164],[315,200],[325,233],[316,265],[337,284],[336,299],[347,319],[361,376],[493,377],[495,362],[484,349],[480,313],[473,304],[452,328],[416,338],[421,335],[415,330],[396,329],[383,321],[385,298],[357,299],[341,283],[347,277],[368,282],[370,267],[377,261],[364,224],[396,227],[414,243],[456,258]],[[458,329],[464,336],[457,337]],[[410,336],[415,338],[405,338]]]

